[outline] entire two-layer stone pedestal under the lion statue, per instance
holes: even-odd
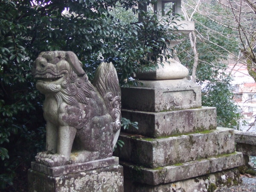
[[[32,163],[29,192],[123,192],[123,168],[117,157],[46,167]]]

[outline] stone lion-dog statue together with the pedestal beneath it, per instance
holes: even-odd
[[[32,73],[45,95],[46,151],[29,170],[29,191],[123,191],[122,166],[112,157],[121,128],[120,88],[112,63],[93,84],[73,52],[41,52]]]

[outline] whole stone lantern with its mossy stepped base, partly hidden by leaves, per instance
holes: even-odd
[[[157,2],[162,10],[172,1]],[[189,32],[194,25],[179,28]],[[122,88],[122,116],[139,123],[138,130],[122,131],[125,145],[115,151],[125,192],[207,192],[241,182],[233,129],[217,128],[216,109],[201,106],[201,87],[187,75],[173,58],[137,74],[142,85]]]

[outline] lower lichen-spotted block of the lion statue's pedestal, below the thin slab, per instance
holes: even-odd
[[[29,169],[29,192],[123,192],[122,166],[52,177]]]

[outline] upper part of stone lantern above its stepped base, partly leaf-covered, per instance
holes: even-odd
[[[166,12],[170,10],[172,10],[172,15],[174,16],[177,14],[181,15],[181,0],[157,0],[154,4],[141,3],[139,8],[145,12],[154,11],[154,14],[159,14],[159,17],[165,17]],[[139,15],[139,21],[142,19],[142,16]],[[178,30],[175,31],[176,34],[188,35],[195,29],[194,22],[192,21],[175,20],[175,23],[178,26]],[[181,41],[182,39],[171,41],[169,48],[174,47]],[[189,74],[189,71],[180,64],[177,58],[163,61],[162,64],[164,67],[158,64],[157,70],[137,73],[136,78],[141,80],[183,79]]]

